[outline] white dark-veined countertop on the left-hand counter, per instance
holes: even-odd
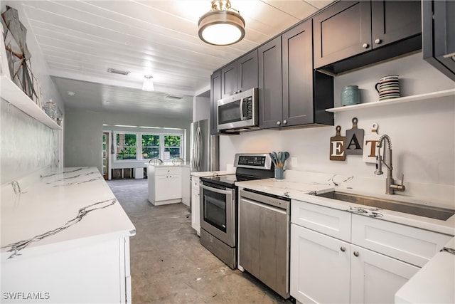
[[[134,234],[96,167],[55,169],[1,185],[2,263]]]

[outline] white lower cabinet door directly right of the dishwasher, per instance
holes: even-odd
[[[350,244],[291,224],[291,295],[301,303],[349,303]]]

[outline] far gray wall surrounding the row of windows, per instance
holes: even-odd
[[[65,167],[93,166],[102,172],[102,131],[113,130],[106,125],[134,125],[144,127],[177,127],[186,129],[189,137],[191,120],[176,120],[136,113],[95,112],[66,109]],[[186,140],[187,159],[189,138]],[[132,166],[134,167],[134,166]]]

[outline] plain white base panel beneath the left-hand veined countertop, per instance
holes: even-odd
[[[2,303],[131,303],[129,238],[1,264]]]

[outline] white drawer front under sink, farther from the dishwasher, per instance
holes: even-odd
[[[422,267],[452,238],[446,234],[353,214],[352,243]]]

